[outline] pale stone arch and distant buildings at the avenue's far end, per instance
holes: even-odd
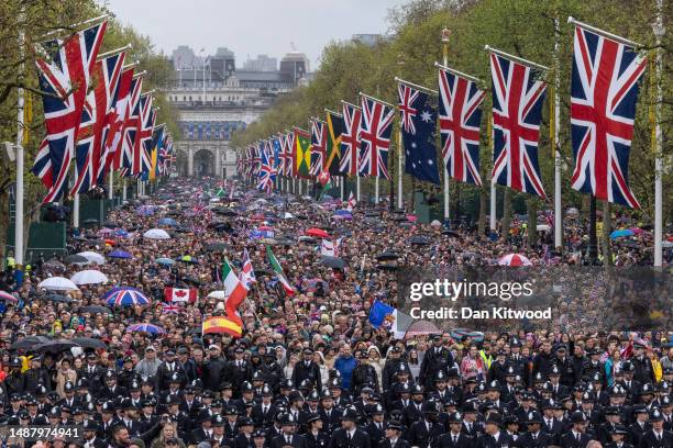
[[[181,138],[175,147],[178,167],[188,176],[234,176],[233,133],[256,121],[279,94],[311,80],[308,58],[298,52],[285,55],[279,68],[277,59],[260,55],[240,70],[229,48],[201,59],[181,45],[173,52],[173,65],[166,97],[179,113]]]

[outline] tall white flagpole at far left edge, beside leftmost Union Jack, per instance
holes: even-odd
[[[23,63],[25,34],[22,22],[25,19],[24,8],[21,7],[16,18],[19,24],[19,58],[21,64],[19,72],[24,75],[25,64]],[[16,89],[16,188],[14,194],[14,264],[18,269],[23,268],[23,133],[24,133],[24,91],[22,88]]]

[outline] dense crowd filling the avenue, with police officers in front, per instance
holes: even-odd
[[[673,447],[671,325],[603,331],[594,306],[584,325],[395,338],[368,320],[374,301],[396,303],[401,267],[488,266],[510,253],[533,265],[582,265],[586,239],[576,229],[572,247],[555,254],[543,240],[526,247],[520,237],[445,232],[383,209],[355,205],[336,219],[342,206],[243,182],[172,180],[68,238],[70,254],[130,254],[86,267],[106,284],[53,294],[37,284],[81,264],[40,260],[21,276],[10,266],[0,276],[0,290],[15,298],[1,307],[0,435],[2,426],[80,429],[23,445],[38,448]],[[155,227],[170,238],[143,237]],[[340,238],[345,268],[321,262],[309,227]],[[410,245],[413,236],[427,242]],[[642,264],[643,238],[615,242],[617,259]],[[205,318],[225,313],[209,296],[222,290],[222,262],[240,270],[244,249],[256,282],[240,309],[243,335],[202,334]],[[384,253],[395,262],[380,261]],[[121,285],[151,302],[107,307],[101,298]],[[165,288],[196,289],[198,300],[166,306]],[[671,298],[659,299],[669,303],[662,322],[673,322]],[[566,314],[582,318],[576,305]],[[128,329],[139,323],[163,332]],[[38,336],[100,344],[36,348]]]

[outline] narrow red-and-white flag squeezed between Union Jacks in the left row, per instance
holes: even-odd
[[[131,165],[131,158],[124,160],[122,152],[122,137],[124,135],[124,124],[126,123],[126,116],[129,115],[129,103],[131,102],[131,87],[133,85],[133,68],[129,68],[121,74],[117,91],[114,92],[114,100],[112,104],[112,111],[110,112],[110,130],[106,139],[106,153],[111,164],[110,167],[113,170],[119,170],[123,166]]]

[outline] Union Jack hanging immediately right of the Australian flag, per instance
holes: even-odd
[[[439,70],[440,137],[449,176],[461,182],[482,184],[479,175],[479,123],[485,93],[476,82]]]

